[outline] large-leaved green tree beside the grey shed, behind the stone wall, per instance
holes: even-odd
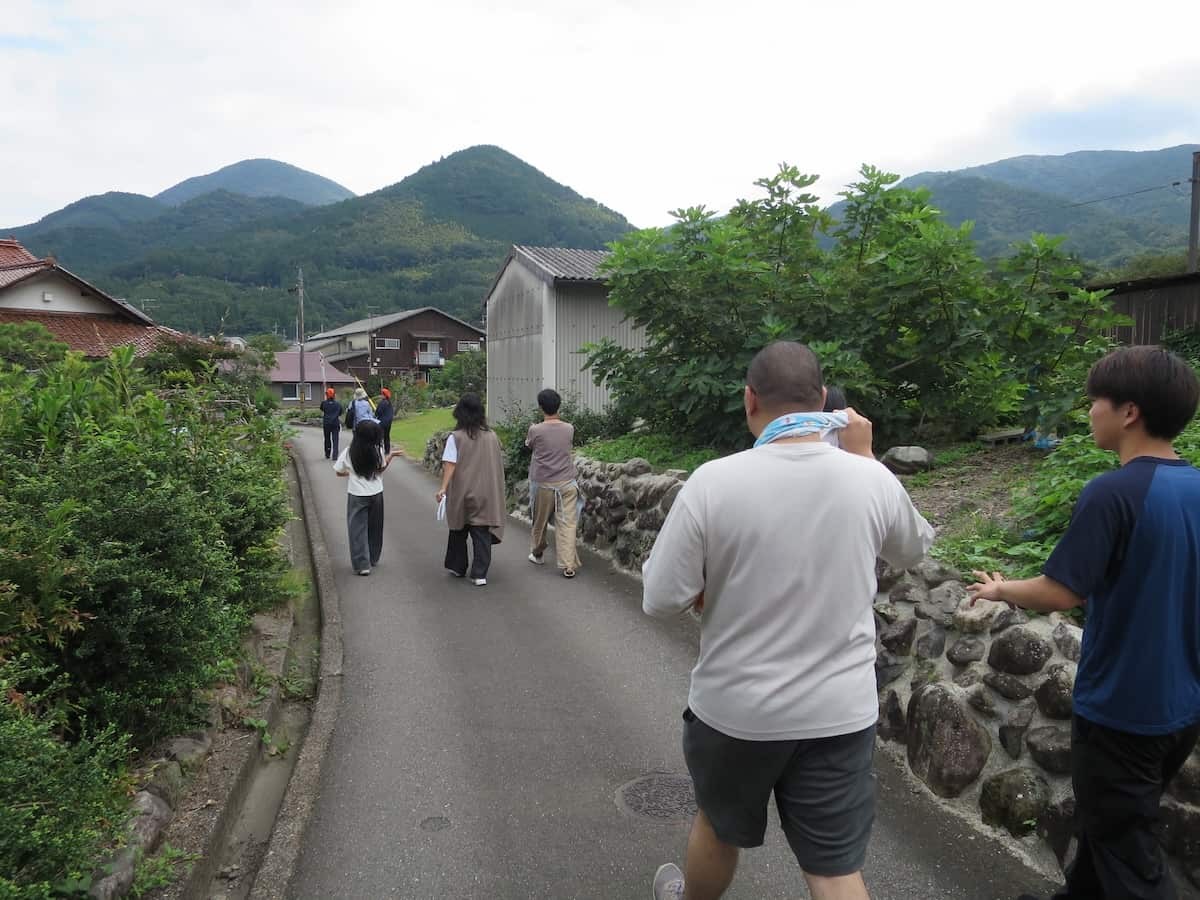
[[[626,235],[605,264],[610,300],[647,344],[589,346],[593,376],[701,445],[745,444],[744,372],[775,340],[809,343],[884,440],[1061,420],[1117,322],[1104,294],[1042,235],[994,275],[970,222],[946,224],[926,190],[895,181],[863,167],[834,227],[814,179],[781,166],[724,218],[679,210],[670,229]]]

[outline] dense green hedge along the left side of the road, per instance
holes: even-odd
[[[284,426],[259,380],[194,348],[0,370],[0,898],[78,887],[130,754],[194,727],[280,595]]]

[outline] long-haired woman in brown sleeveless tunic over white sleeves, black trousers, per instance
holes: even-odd
[[[504,499],[504,460],[496,432],[487,427],[478,394],[463,394],[454,409],[458,427],[442,454],[442,487],[436,499],[446,502],[445,566],[460,578],[467,575],[467,538],[474,546],[472,584],[487,583],[492,545],[504,536],[508,506]]]

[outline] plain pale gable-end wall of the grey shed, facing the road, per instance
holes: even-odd
[[[548,287],[517,260],[487,301],[487,415],[504,421],[534,407],[546,384],[542,313]]]

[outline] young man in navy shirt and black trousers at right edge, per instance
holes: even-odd
[[[976,572],[971,594],[1087,611],[1072,730],[1079,852],[1056,900],[1174,898],[1158,806],[1200,734],[1200,472],[1171,442],[1200,384],[1160,347],[1128,347],[1092,367],[1087,395],[1096,444],[1121,468],[1080,493],[1043,575]]]

